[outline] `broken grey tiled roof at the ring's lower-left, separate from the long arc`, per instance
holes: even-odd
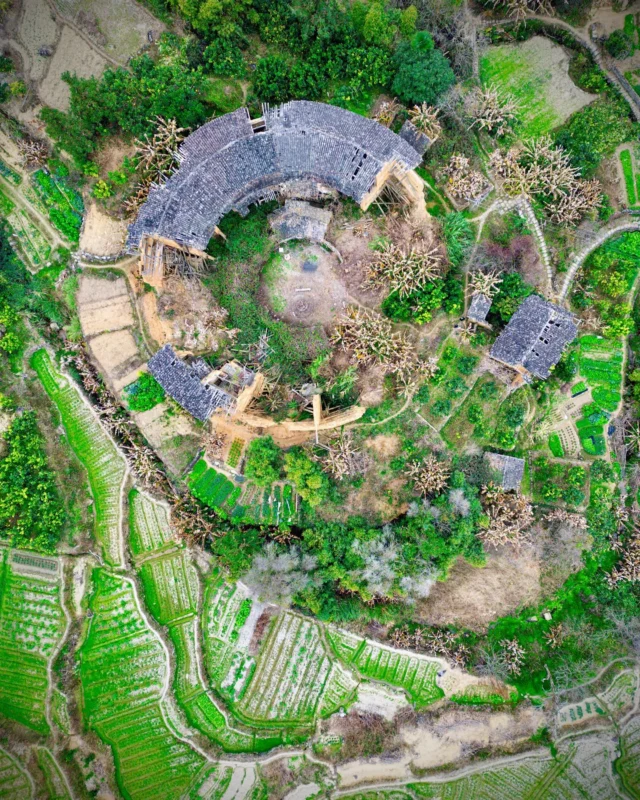
[[[149,359],[149,372],[165,392],[196,419],[206,422],[219,408],[229,410],[234,398],[217,386],[203,384],[204,370],[196,368],[178,358],[170,344]]]

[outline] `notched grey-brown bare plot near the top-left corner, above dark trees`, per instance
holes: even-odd
[[[69,108],[70,92],[62,80],[63,72],[79,78],[99,77],[107,61],[68,25],[62,29],[60,41],[50,59],[47,77],[40,84],[38,94],[43,103],[60,111]]]

